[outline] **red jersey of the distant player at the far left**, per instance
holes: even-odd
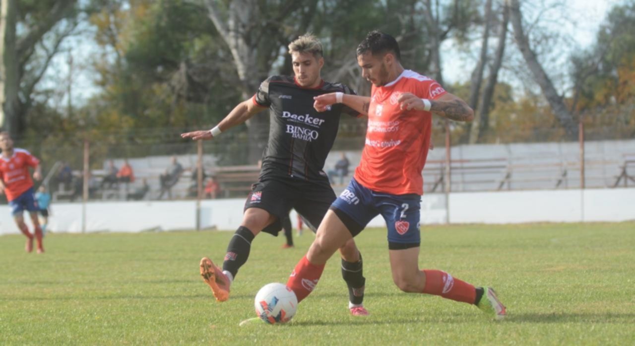
[[[13,201],[23,192],[33,187],[30,167],[37,167],[39,160],[24,149],[13,149],[11,157],[0,156],[0,178],[4,182],[6,199]]]

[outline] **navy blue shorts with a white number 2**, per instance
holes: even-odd
[[[390,250],[415,248],[421,244],[421,196],[418,194],[375,192],[352,179],[330,209],[344,222],[353,237],[381,214],[388,228]]]

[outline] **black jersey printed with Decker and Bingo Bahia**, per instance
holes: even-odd
[[[262,84],[253,102],[269,107],[269,142],[262,155],[260,180],[295,177],[307,181],[328,181],[324,161],[333,147],[340,114],[359,112],[336,103],[325,112],[313,108],[314,96],[340,91],[356,95],[344,84],[322,82],[317,88],[302,88],[290,76],[272,76]]]

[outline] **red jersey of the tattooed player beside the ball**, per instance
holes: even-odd
[[[355,179],[377,192],[424,193],[425,159],[430,146],[432,113],[401,110],[402,93],[434,100],[446,91],[433,79],[404,70],[397,79],[371,90],[368,129]]]

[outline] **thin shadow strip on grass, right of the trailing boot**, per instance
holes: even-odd
[[[506,323],[633,323],[635,313],[613,314],[610,312],[601,314],[569,314],[545,313],[545,314],[511,314]]]

